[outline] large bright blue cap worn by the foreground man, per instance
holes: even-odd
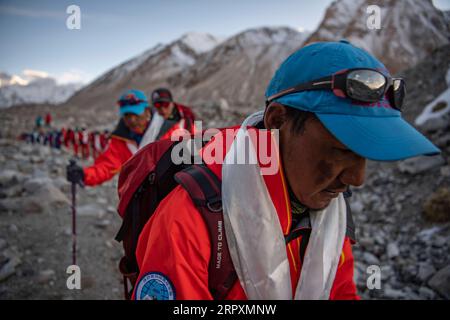
[[[380,61],[346,40],[317,42],[296,51],[281,64],[267,87],[266,98],[352,68],[373,68],[390,76]],[[331,90],[317,90],[287,94],[274,101],[313,112],[336,139],[364,158],[394,161],[440,153],[386,98],[367,104],[338,97]]]

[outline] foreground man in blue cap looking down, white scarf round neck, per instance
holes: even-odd
[[[223,163],[207,163],[221,181],[223,246],[235,272],[218,286],[220,297],[359,299],[344,194],[363,184],[366,159],[439,153],[401,117],[404,97],[402,79],[347,41],[314,43],[283,62],[267,88],[266,109],[234,129],[231,146],[222,146]],[[248,140],[259,141],[250,133],[259,138],[274,130],[280,159],[275,174],[264,175],[260,159],[235,165]],[[217,135],[205,148],[220,141]],[[260,146],[252,143],[256,153]],[[152,279],[170,293],[157,298],[216,298],[208,267],[220,261],[210,261],[212,252],[199,210],[188,191],[176,187],[139,239],[134,298],[148,298]]]

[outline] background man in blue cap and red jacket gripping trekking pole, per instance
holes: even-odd
[[[156,141],[164,119],[156,112],[152,115],[143,92],[128,90],[117,103],[121,119],[111,133],[106,150],[90,167],[83,169],[76,164],[69,165],[69,181],[83,182],[89,186],[108,181],[138,149]]]

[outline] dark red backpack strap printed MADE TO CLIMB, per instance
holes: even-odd
[[[205,165],[192,165],[178,172],[175,180],[189,193],[206,223],[211,241],[208,287],[214,299],[225,299],[237,280],[237,274],[225,236],[222,184]]]

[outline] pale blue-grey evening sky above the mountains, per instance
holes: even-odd
[[[87,83],[112,67],[187,32],[229,37],[261,26],[313,31],[332,0],[0,0],[0,71],[47,72]],[[450,10],[450,0],[433,0]],[[81,29],[69,30],[69,5]]]

